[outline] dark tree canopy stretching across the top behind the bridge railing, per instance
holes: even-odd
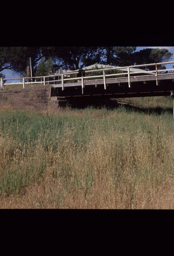
[[[52,60],[52,68],[77,70],[80,66],[106,64],[128,66],[168,61],[173,55],[168,49],[137,47],[0,47],[0,72],[5,69],[26,76],[31,58],[32,76],[39,73],[41,64]],[[41,62],[39,62],[42,59]],[[40,65],[40,66],[39,66]],[[165,67],[164,67],[165,68]],[[29,72],[29,68],[28,68]]]

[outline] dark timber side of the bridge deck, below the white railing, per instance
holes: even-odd
[[[83,90],[83,93],[82,93]],[[51,87],[51,96],[66,99],[82,98],[128,98],[146,96],[170,96],[174,90],[174,74],[159,75],[158,80],[152,76],[131,77],[130,87],[128,78],[106,79],[106,89],[103,79],[84,81],[82,83],[66,83],[62,90],[61,84]]]

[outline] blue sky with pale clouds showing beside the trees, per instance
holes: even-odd
[[[145,48],[159,48],[159,49],[168,49],[169,52],[173,53],[173,56],[171,57],[171,59],[169,61],[174,61],[174,46],[157,46],[157,47],[152,47],[152,46],[141,46],[141,47],[137,47],[136,51],[140,51],[141,49],[145,49]],[[174,64],[168,64],[166,65],[166,69],[167,68],[172,68],[172,65]],[[19,78],[20,76],[15,74],[14,71],[11,70],[3,70],[1,73],[3,73],[6,76],[6,79],[10,79],[10,78]],[[12,82],[17,82],[19,80],[9,80],[7,81],[8,83],[12,83]]]

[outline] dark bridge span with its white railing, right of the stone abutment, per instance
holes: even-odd
[[[86,70],[86,76],[78,78],[61,78],[60,84],[51,85],[51,96],[88,97],[102,96],[108,98],[143,97],[143,96],[167,96],[174,90],[174,69],[157,68],[161,64],[174,62],[134,65],[128,67],[116,67],[110,69]],[[131,72],[132,67],[155,66],[154,70],[142,70]],[[114,73],[119,69],[127,69],[124,73]],[[110,74],[106,74],[107,71]],[[168,73],[170,71],[170,73]],[[87,76],[88,73],[103,73]],[[165,72],[165,73],[164,73]],[[143,75],[142,75],[143,73]],[[150,73],[150,74],[149,74]],[[64,75],[74,73],[64,73]],[[121,76],[121,77],[120,77]],[[123,77],[124,76],[124,77]],[[112,77],[112,78],[110,78]],[[114,78],[113,78],[114,77]],[[99,79],[100,78],[100,79]],[[91,80],[89,80],[91,79]],[[70,82],[74,80],[73,82]],[[65,81],[68,81],[65,83]],[[173,95],[173,94],[172,94]]]

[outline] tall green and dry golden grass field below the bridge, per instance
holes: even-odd
[[[0,111],[0,208],[174,209],[173,99]]]

